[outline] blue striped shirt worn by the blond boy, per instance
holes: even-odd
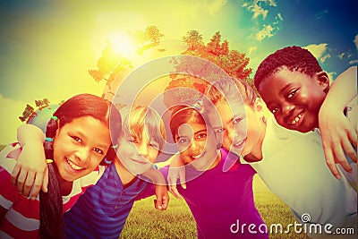
[[[64,214],[66,238],[117,239],[134,201],[148,185],[137,178],[124,188],[115,164],[111,164],[98,183],[81,195],[72,209]]]

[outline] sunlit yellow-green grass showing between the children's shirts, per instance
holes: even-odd
[[[260,177],[255,175],[253,183],[255,202],[266,225],[294,223],[291,210],[284,202],[270,192]],[[153,206],[154,197],[136,201],[124,225],[120,236],[124,238],[197,238],[196,226],[192,213],[185,201],[170,198],[169,208],[158,211]],[[291,230],[292,231],[292,230]],[[271,234],[269,238],[301,239],[304,235]]]

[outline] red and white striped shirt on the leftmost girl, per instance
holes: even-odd
[[[10,181],[20,152],[18,143],[8,145],[0,152],[0,238],[38,238],[39,197],[36,200],[25,198]],[[64,211],[71,209],[80,195],[96,184],[104,170],[104,166],[98,166],[89,175],[73,181],[72,192],[63,196]]]

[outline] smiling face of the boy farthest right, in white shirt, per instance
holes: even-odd
[[[259,92],[281,126],[299,132],[318,127],[320,106],[329,87],[327,73],[312,77],[283,67],[260,83]]]

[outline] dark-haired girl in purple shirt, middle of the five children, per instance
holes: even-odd
[[[208,117],[200,111],[200,107],[175,107],[170,119],[170,130],[180,152],[174,158],[186,164],[187,189],[178,190],[195,218],[198,238],[268,238],[264,230],[250,234],[237,229],[236,223],[266,226],[253,200],[255,171],[237,162],[223,172],[226,160],[237,156],[221,149]],[[169,184],[176,184],[176,180]]]

